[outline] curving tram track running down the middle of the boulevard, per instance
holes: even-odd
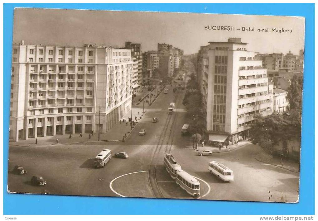
[[[174,102],[176,104],[175,106],[177,106],[177,103],[178,104],[180,103],[180,101],[178,101],[179,95],[180,94],[177,93],[176,97],[174,99]],[[165,146],[165,153],[169,153],[171,151],[171,146],[173,143],[173,134],[174,134],[173,126],[176,122],[177,115],[178,115],[177,111],[174,112],[174,114],[172,114],[172,115],[168,114],[168,117],[167,117],[165,125],[164,125],[164,130],[160,134],[160,137],[159,137],[157,145],[156,145],[156,149],[154,151],[154,154],[151,158],[151,162],[149,165],[148,179],[149,179],[150,188],[151,188],[155,198],[163,198],[162,192],[160,191],[160,188],[158,186],[157,179],[156,179],[156,168],[157,168],[158,159],[160,156],[162,146],[166,145]],[[168,130],[169,130],[169,136],[166,136]],[[171,142],[169,142],[171,137],[172,137],[172,140],[171,140]],[[170,146],[169,146],[169,143],[170,143]]]

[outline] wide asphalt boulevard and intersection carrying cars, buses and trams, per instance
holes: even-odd
[[[257,145],[246,144],[231,152],[198,156],[190,146],[190,136],[181,135],[181,127],[187,123],[182,104],[185,90],[178,89],[174,93],[174,87],[167,85],[169,92],[161,93],[151,106],[147,105],[145,116],[125,142],[10,146],[8,190],[60,195],[195,199],[181,189],[165,170],[163,155],[171,153],[183,170],[198,178],[199,199],[298,200],[299,174],[255,160],[254,156],[260,151]],[[171,102],[175,102],[175,110],[169,115]],[[152,123],[153,117],[157,117],[158,122]],[[141,129],[146,130],[144,136],[139,135]],[[96,169],[94,158],[103,149],[110,149],[113,157],[105,168]],[[120,151],[127,152],[129,157],[115,158],[115,152]],[[234,181],[223,182],[211,175],[208,163],[212,160],[232,169]],[[11,171],[15,165],[23,165],[28,174],[13,174]],[[31,185],[32,175],[43,176],[47,184]]]

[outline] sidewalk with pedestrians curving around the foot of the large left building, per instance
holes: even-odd
[[[139,114],[138,114],[139,111]],[[147,109],[145,109],[145,112]],[[138,122],[142,119],[142,108],[133,106],[133,121]],[[128,122],[128,117],[131,117],[131,111],[129,111],[122,119],[126,119]],[[135,121],[135,117],[137,117],[137,121]],[[114,125],[109,131],[104,134],[100,134],[100,141],[122,141],[122,138],[125,136],[128,138],[131,130],[130,123],[126,123],[118,121],[116,125]],[[136,125],[135,125],[136,126]],[[134,127],[133,125],[133,130]],[[30,147],[46,147],[51,145],[56,145],[56,139],[59,139],[59,144],[76,144],[76,143],[90,143],[90,142],[98,142],[98,131],[94,131],[94,135],[91,135],[89,138],[89,134],[83,134],[83,137],[79,137],[79,134],[72,134],[72,139],[69,139],[69,134],[65,135],[56,135],[56,136],[47,136],[47,137],[38,137],[38,144],[35,144],[35,138],[30,138],[28,140],[19,140],[18,142],[9,142],[9,145],[17,145],[17,146],[30,146]]]

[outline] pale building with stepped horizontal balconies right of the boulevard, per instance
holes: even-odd
[[[201,47],[197,78],[210,141],[237,142],[248,136],[254,114],[273,112],[273,84],[255,55],[240,38]]]

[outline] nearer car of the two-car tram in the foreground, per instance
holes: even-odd
[[[192,196],[200,196],[200,182],[183,170],[176,172],[176,183]]]

